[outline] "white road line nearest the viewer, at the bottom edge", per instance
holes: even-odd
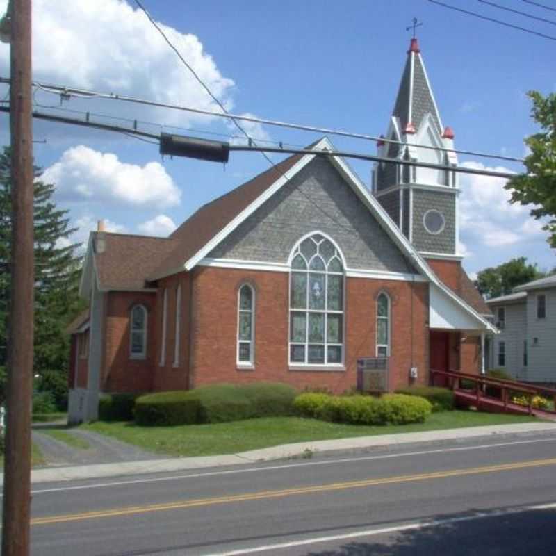
[[[541,509],[556,509],[556,502],[551,504],[542,504],[536,506],[524,506],[518,508],[497,509],[492,512],[477,512],[471,516],[460,516],[446,519],[433,519],[430,521],[418,521],[416,523],[408,523],[406,525],[393,525],[380,529],[367,529],[352,533],[343,533],[330,535],[329,537],[313,537],[312,539],[300,539],[297,541],[289,541],[285,543],[267,544],[263,546],[255,546],[252,548],[239,548],[237,550],[227,550],[226,552],[210,553],[206,556],[241,556],[244,554],[254,554],[266,552],[268,550],[285,550],[286,548],[294,548],[295,546],[306,546],[317,543],[329,543],[332,541],[343,541],[346,539],[357,539],[358,537],[374,537],[379,534],[397,533],[402,531],[411,531],[424,529],[427,527],[436,527],[438,525],[450,525],[450,523],[461,523],[463,521],[472,521],[475,519],[484,519],[500,516],[508,516],[511,514],[521,514],[523,512],[533,512]]]

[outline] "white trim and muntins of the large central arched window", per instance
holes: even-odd
[[[295,258],[295,255],[297,254],[297,248],[300,247],[300,245],[304,242],[304,240],[306,240],[306,238],[310,238],[311,236],[316,236],[317,234],[319,234],[320,236],[322,236],[323,238],[329,240],[330,243],[332,243],[332,245],[334,245],[334,247],[336,248],[336,251],[338,252],[338,257],[342,263],[342,268],[343,271],[342,272],[316,272],[317,274],[322,273],[325,275],[334,275],[334,276],[342,276],[343,280],[342,280],[342,306],[343,309],[341,311],[329,311],[328,309],[328,299],[327,296],[325,297],[325,309],[323,309],[322,311],[320,309],[309,309],[308,307],[306,309],[292,309],[291,307],[291,277],[292,277],[292,263],[293,263],[293,259]],[[309,261],[306,261],[307,263],[307,269],[309,269]],[[304,236],[302,236],[302,238],[300,238],[297,243],[295,243],[295,245],[293,246],[293,249],[290,252],[290,256],[288,257],[288,266],[289,266],[289,280],[288,280],[288,354],[287,354],[287,361],[288,361],[288,370],[345,370],[345,282],[346,282],[346,264],[345,264],[345,257],[343,256],[343,252],[340,249],[340,247],[338,246],[338,244],[328,235],[325,234],[325,232],[320,231],[320,230],[315,230],[315,231],[311,231],[309,232],[309,234],[305,234]],[[307,279],[309,279],[309,270],[306,270],[307,273]],[[342,343],[341,344],[329,344],[327,342],[324,343],[325,345],[325,359],[327,359],[327,350],[326,348],[328,347],[328,345],[341,345],[342,348],[342,359],[339,363],[302,363],[300,361],[291,361],[291,346],[292,345],[300,345],[301,342],[292,342],[291,341],[291,313],[298,313],[298,312],[304,312],[304,313],[321,313],[323,315],[327,315],[327,313],[334,313],[334,314],[338,314],[338,315],[342,315]],[[326,336],[326,331],[327,331],[327,322],[326,322],[326,318],[325,318],[325,336]],[[305,343],[305,361],[308,361],[309,358],[309,318],[306,319],[306,341]]]

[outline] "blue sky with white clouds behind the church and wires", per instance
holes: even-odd
[[[523,0],[500,5],[556,22],[556,11]],[[172,43],[226,106],[240,115],[379,136],[386,133],[411,31],[417,36],[443,123],[458,149],[522,157],[537,131],[528,90],[556,92],[556,28],[474,0],[452,6],[530,28],[555,40],[457,13],[429,0],[142,0]],[[550,0],[545,5],[550,6]],[[0,13],[7,0],[0,0]],[[556,6],[555,6],[556,8]],[[9,46],[0,43],[0,75]],[[33,0],[33,79],[167,104],[218,106],[164,42],[133,0]],[[0,97],[8,88],[0,85]],[[70,97],[36,90],[38,111],[92,121],[240,142],[219,117]],[[261,145],[305,146],[320,133],[243,124]],[[0,142],[9,121],[0,114]],[[202,204],[268,167],[263,156],[233,153],[227,165],[162,158],[158,145],[121,133],[35,120],[35,164],[55,183],[86,241],[97,220],[111,231],[167,236]],[[373,142],[329,135],[338,149],[376,154]],[[264,143],[261,141],[270,141]],[[277,162],[281,156],[271,155]],[[468,167],[521,172],[520,163],[459,156]],[[371,163],[350,161],[369,185]],[[503,179],[460,178],[460,250],[474,277],[483,268],[526,256],[541,270],[556,266],[546,232],[530,207],[508,203]]]

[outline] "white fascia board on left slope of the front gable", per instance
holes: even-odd
[[[331,149],[332,145],[327,140],[327,138],[322,138],[314,147],[313,150],[324,151],[326,149]],[[331,149],[332,150],[332,149]],[[234,231],[241,222],[246,218],[250,217],[254,211],[256,211],[259,206],[266,202],[272,195],[274,195],[282,186],[284,186],[290,179],[292,179],[297,172],[300,172],[309,162],[315,158],[314,154],[304,155],[299,162],[293,165],[290,170],[284,172],[272,186],[265,190],[262,195],[259,195],[247,208],[241,211],[234,220],[229,222],[222,230],[218,232],[202,249],[197,251],[188,261],[186,261],[184,267],[185,270],[191,270],[199,261],[204,259],[204,257],[210,253],[224,238],[226,238],[232,231]]]

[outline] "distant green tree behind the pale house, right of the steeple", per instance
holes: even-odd
[[[527,257],[520,256],[507,263],[481,270],[477,273],[475,286],[488,298],[500,297],[512,293],[516,286],[527,284],[543,276],[543,272],[537,269],[537,265],[528,265]]]

